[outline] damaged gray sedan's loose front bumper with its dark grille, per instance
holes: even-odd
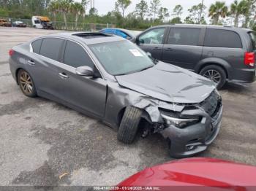
[[[170,139],[170,155],[176,158],[203,152],[216,139],[222,120],[222,100],[219,94],[211,93],[202,103],[187,106],[181,116],[199,117],[200,120],[183,128],[169,124],[159,132]]]

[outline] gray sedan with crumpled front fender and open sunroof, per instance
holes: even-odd
[[[10,70],[29,96],[95,117],[131,144],[161,133],[172,157],[206,150],[217,137],[222,99],[214,84],[155,61],[135,44],[98,33],[52,34],[10,50]]]

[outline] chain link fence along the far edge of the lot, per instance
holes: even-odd
[[[18,19],[18,18],[7,18],[11,23],[15,21],[22,21],[26,23],[26,26],[33,27],[30,19]],[[67,22],[67,27],[64,22],[56,21],[53,22],[53,28],[56,30],[67,30],[67,31],[99,31],[103,28],[114,28],[113,24],[98,24],[98,23],[77,23]]]

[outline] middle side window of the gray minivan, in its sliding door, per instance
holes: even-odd
[[[197,46],[200,31],[200,28],[171,28],[167,43]]]

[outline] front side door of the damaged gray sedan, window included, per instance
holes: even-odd
[[[61,88],[59,97],[78,109],[103,117],[107,94],[106,80],[102,77],[82,77],[75,71],[80,66],[90,66],[94,73],[99,74],[88,52],[77,42],[67,40],[61,62],[58,71]]]

